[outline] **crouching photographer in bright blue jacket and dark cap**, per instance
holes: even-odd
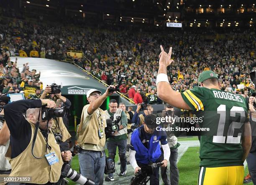
[[[167,167],[170,157],[170,149],[165,131],[157,131],[160,127],[156,124],[155,115],[147,115],[143,125],[134,130],[131,135],[130,163],[135,169],[134,173],[143,166],[151,163],[163,163],[162,167]],[[160,127],[161,128],[161,127]],[[164,160],[161,160],[160,144],[164,150]],[[159,185],[159,167],[154,169],[150,176],[150,185]]]

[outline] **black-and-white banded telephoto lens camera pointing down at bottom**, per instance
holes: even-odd
[[[67,163],[64,163],[61,168],[61,178],[69,178],[75,183],[81,184],[81,185],[94,185],[95,183],[82,176],[80,173],[78,173],[75,170],[72,170],[71,166]]]

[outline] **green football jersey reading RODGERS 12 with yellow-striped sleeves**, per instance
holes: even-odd
[[[246,99],[231,92],[194,87],[182,92],[184,101],[202,117],[200,128],[209,132],[200,138],[200,166],[222,167],[243,165],[241,136],[248,122]]]

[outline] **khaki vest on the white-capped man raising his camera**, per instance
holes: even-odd
[[[89,107],[90,105],[85,105],[85,106]],[[82,129],[83,123],[84,123],[84,109],[85,108],[83,108],[83,110],[82,110],[81,122],[80,122],[79,128],[77,130],[77,135],[78,135],[77,142],[79,143],[79,146],[82,147],[86,143],[90,143],[90,144],[99,145],[101,147],[104,147],[105,142],[106,142],[105,112],[102,109],[98,108],[101,116],[97,117],[96,112],[93,112],[91,115],[90,124],[88,124],[87,127],[85,127],[85,129]],[[98,120],[103,120],[103,126],[101,126],[101,124],[99,125]],[[98,134],[99,128],[101,128],[103,130],[104,137],[102,139],[100,139],[99,134]]]

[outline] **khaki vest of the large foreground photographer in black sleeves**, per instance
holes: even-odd
[[[51,147],[50,152],[55,152],[57,158],[59,159],[59,163],[55,163],[54,165],[50,166],[45,157],[42,159],[34,158],[31,153],[31,148],[35,132],[35,125],[31,122],[30,125],[32,130],[30,143],[28,144],[28,147],[20,155],[10,160],[10,164],[12,167],[12,172],[10,173],[10,176],[31,176],[32,178],[29,183],[34,184],[45,184],[49,181],[51,183],[56,183],[60,178],[61,167],[63,165],[59,145],[56,143],[54,135],[50,129],[50,133],[48,135],[48,143]],[[41,158],[43,155],[45,155],[45,150],[45,138],[42,135],[42,133],[38,130],[33,153],[37,158]],[[47,154],[50,152],[49,150],[47,150]]]

